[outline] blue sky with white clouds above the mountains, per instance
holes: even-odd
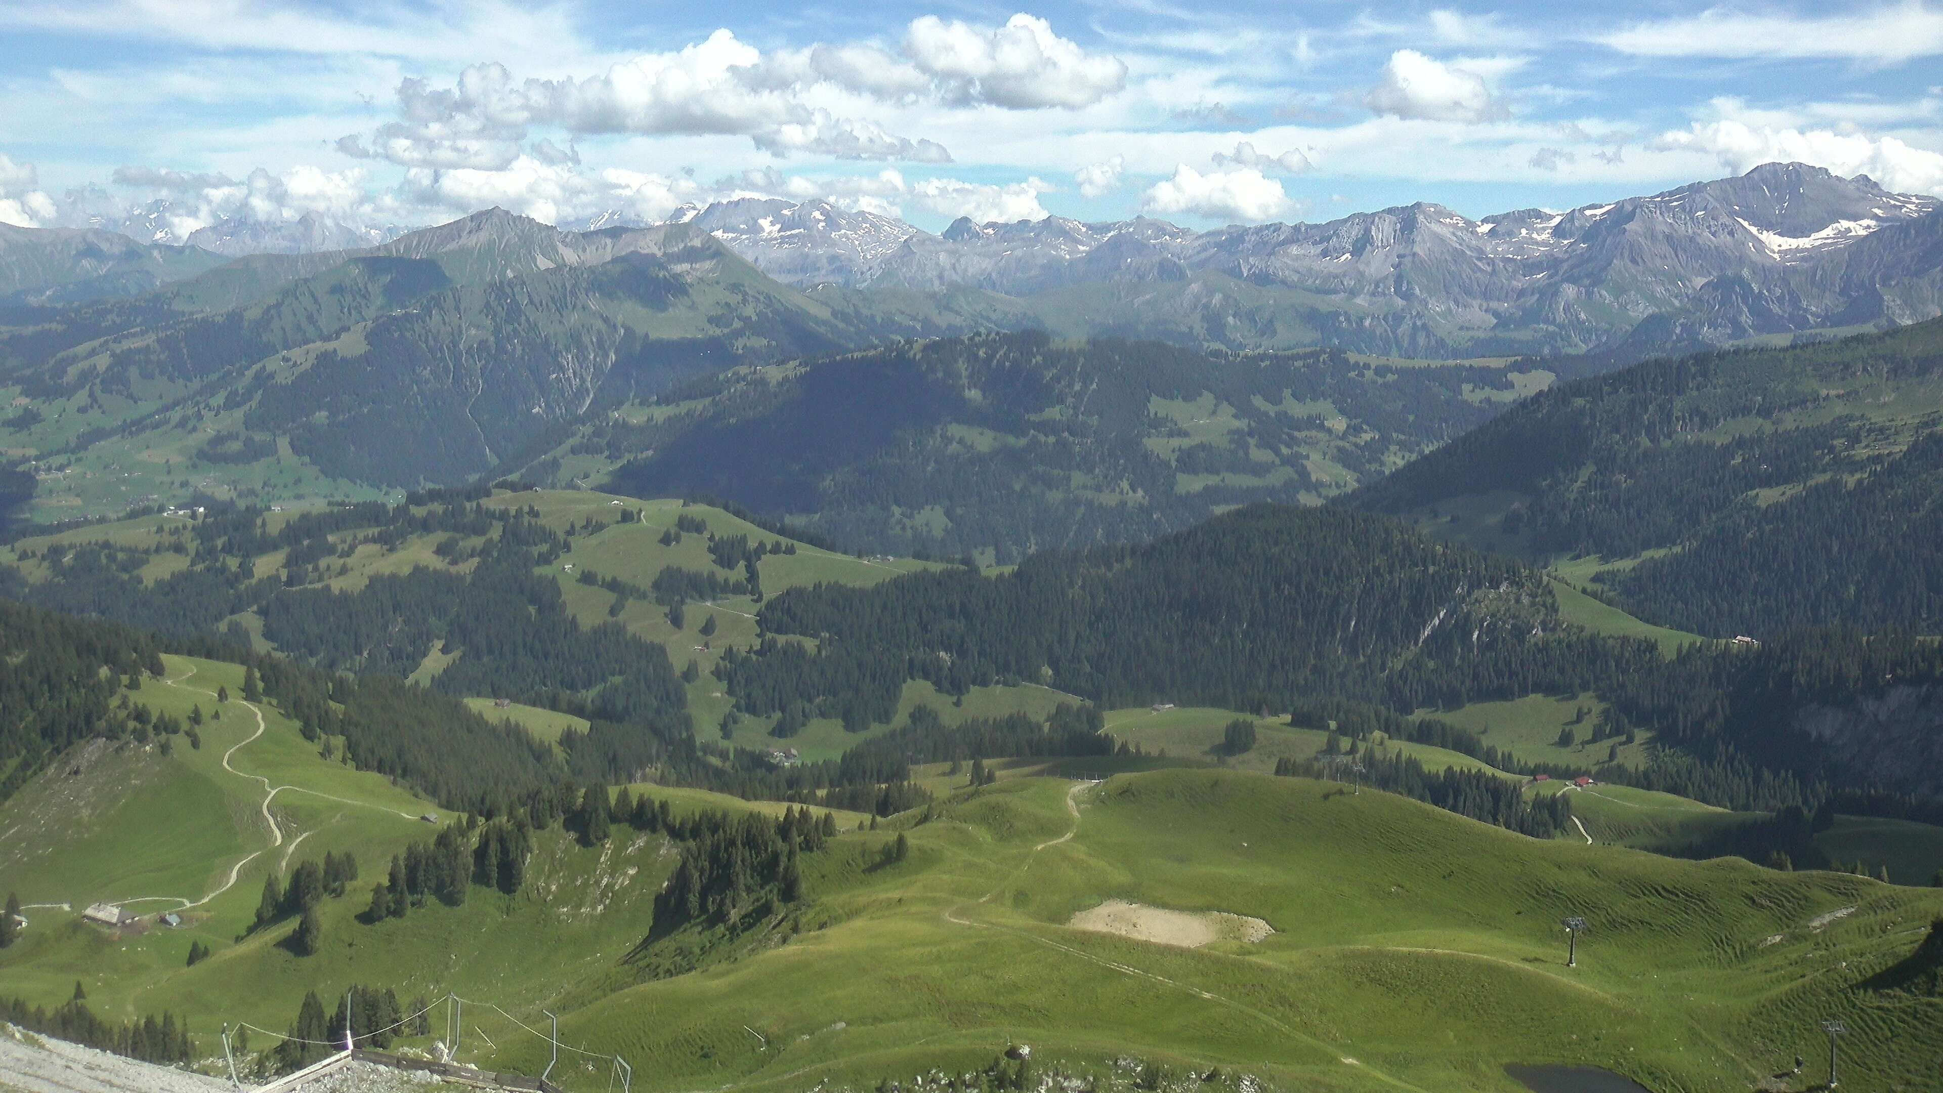
[[[0,222],[733,196],[1323,222],[1799,159],[1943,194],[1943,2],[6,0]]]

